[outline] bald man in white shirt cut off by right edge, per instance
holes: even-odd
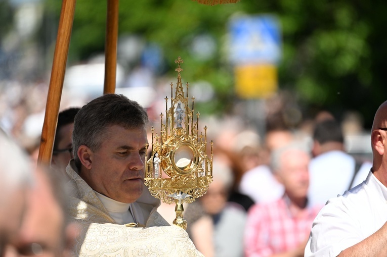
[[[387,255],[387,101],[376,111],[371,146],[366,180],[327,202],[313,222],[306,257]]]

